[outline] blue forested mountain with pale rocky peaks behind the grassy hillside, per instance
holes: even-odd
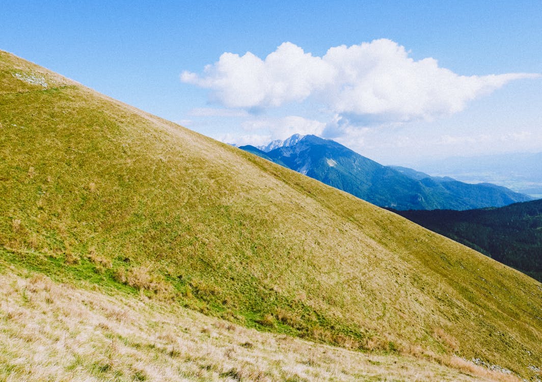
[[[431,177],[406,167],[384,166],[315,135],[295,134],[267,146],[241,146],[373,204],[397,210],[468,210],[532,200],[506,187]]]

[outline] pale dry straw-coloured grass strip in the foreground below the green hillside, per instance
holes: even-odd
[[[515,380],[459,358],[450,368],[364,354],[103,292],[0,274],[0,380]]]

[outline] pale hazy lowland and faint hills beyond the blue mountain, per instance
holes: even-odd
[[[464,182],[489,182],[542,197],[542,153],[509,153],[427,160],[417,167],[431,174],[447,174]]]

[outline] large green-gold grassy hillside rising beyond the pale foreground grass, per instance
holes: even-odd
[[[518,271],[4,52],[0,93],[4,262],[354,349],[542,366],[542,285]]]

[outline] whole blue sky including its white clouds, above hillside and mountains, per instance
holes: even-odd
[[[0,49],[228,143],[542,151],[540,0],[4,0]]]

